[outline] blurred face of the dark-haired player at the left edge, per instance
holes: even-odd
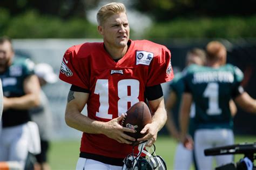
[[[11,59],[14,56],[14,52],[11,49],[9,42],[0,44],[0,72],[4,72],[6,68],[11,64]]]

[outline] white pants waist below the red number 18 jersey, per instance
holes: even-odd
[[[76,170],[122,170],[122,166],[114,166],[92,159],[79,158]]]

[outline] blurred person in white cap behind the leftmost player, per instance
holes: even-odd
[[[53,72],[52,67],[46,63],[39,63],[35,66],[35,74],[39,79],[41,87],[47,84],[56,83],[58,80],[57,75]],[[35,169],[49,170],[48,164],[48,151],[50,147],[50,138],[52,132],[52,112],[48,98],[44,91],[41,89],[40,93],[41,105],[39,107],[32,108],[31,117],[35,121],[39,128],[39,134],[41,138],[41,153],[36,155],[37,164]]]

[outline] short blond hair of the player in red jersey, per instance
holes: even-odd
[[[112,2],[102,6],[97,13],[98,25],[102,25],[106,18],[113,14],[126,13],[126,9],[123,3]]]

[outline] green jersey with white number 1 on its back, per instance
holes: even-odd
[[[184,76],[185,92],[192,94],[197,128],[232,128],[231,98],[243,89],[244,75],[231,64],[213,68],[191,65]]]

